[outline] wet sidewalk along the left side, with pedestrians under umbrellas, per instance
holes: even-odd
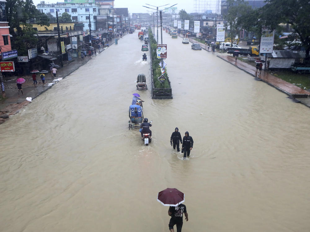
[[[124,37],[123,35],[122,37]],[[121,38],[119,38],[121,39]],[[115,43],[115,40],[113,40],[109,43],[109,47]],[[107,49],[107,48],[105,48]],[[97,49],[97,55],[103,52],[105,49],[100,49],[98,51]],[[76,71],[79,67],[86,64],[89,60],[94,59],[96,56],[92,56],[91,58],[85,57],[82,61],[81,58],[78,58],[72,62],[64,62],[64,67],[60,68],[57,71],[56,78],[53,78],[51,76],[51,73],[46,73],[45,75],[45,85],[42,87],[42,81],[40,79],[39,73],[37,74],[37,87],[33,86],[33,80],[31,75],[27,75],[23,77],[26,79],[26,82],[23,84],[23,93],[24,95],[20,95],[18,97],[18,90],[16,87],[16,79],[17,77],[11,77],[4,80],[5,82],[5,93],[6,93],[6,99],[3,100],[0,103],[0,124],[3,122],[1,116],[4,114],[7,115],[13,115],[19,112],[21,108],[23,108],[25,105],[28,105],[30,102],[26,100],[26,97],[32,97],[32,100],[36,97],[38,97],[43,92],[47,91],[48,89],[52,88],[52,86],[48,86],[48,83],[51,83],[53,79],[57,78],[65,78],[66,76],[70,75],[72,72]]]

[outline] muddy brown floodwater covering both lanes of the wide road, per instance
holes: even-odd
[[[148,147],[128,130],[136,76],[151,86],[137,31],[1,125],[0,231],[169,231],[167,187],[185,193],[184,232],[310,230],[309,109],[181,41],[163,32],[173,99],[139,90]]]

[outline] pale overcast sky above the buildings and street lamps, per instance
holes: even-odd
[[[37,5],[40,3],[41,0],[33,0],[34,5]],[[45,3],[56,3],[56,2],[64,2],[64,1],[57,1],[57,0],[45,0]],[[177,12],[179,12],[181,9],[184,9],[187,13],[192,13],[193,12],[193,0],[157,0],[157,1],[138,1],[138,0],[115,0],[114,1],[114,7],[116,8],[128,8],[129,13],[147,13],[147,10],[152,11],[151,9],[147,9],[143,6],[148,6],[145,5],[145,3],[148,3],[150,5],[154,5],[155,4],[157,6],[162,6],[162,5],[166,5],[168,3],[170,3],[170,5],[167,5],[165,7],[169,7],[172,6],[176,3],[178,3],[178,5],[176,5],[176,7],[178,7]],[[152,6],[149,6],[152,7]],[[153,7],[155,8],[155,7]],[[160,7],[159,9],[164,9],[164,7]]]

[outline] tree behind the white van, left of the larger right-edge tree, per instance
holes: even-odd
[[[233,38],[240,32],[240,18],[243,15],[248,15],[247,12],[251,11],[251,7],[246,2],[244,2],[244,0],[228,0],[227,7],[228,12],[227,14],[223,15],[223,17],[227,21],[225,28],[227,30],[229,26],[231,41],[233,41]]]

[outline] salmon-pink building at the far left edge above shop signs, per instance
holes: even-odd
[[[2,52],[11,51],[11,40],[7,15],[5,12],[6,0],[0,0],[0,57]]]

